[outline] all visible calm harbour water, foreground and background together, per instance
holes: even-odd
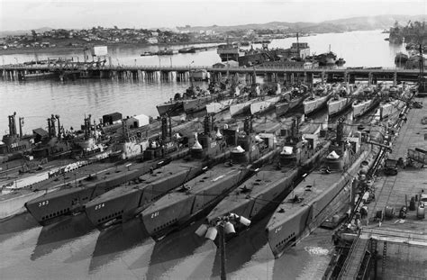
[[[384,41],[387,34],[347,32],[301,38],[312,52],[329,50],[347,60],[346,66],[394,67],[395,53],[402,46]],[[272,47],[287,48],[295,39],[273,41]],[[179,48],[179,46],[177,46]],[[170,58],[143,58],[147,49],[112,50],[121,64],[170,63],[210,65],[219,61],[215,50]],[[39,59],[78,55],[77,52],[39,54]],[[4,55],[5,63],[27,61],[33,54]],[[136,59],[136,62],[135,62]],[[7,115],[25,117],[24,131],[46,127],[51,113],[61,123],[79,127],[85,114],[95,120],[104,113],[124,116],[145,113],[156,116],[155,105],[182,92],[187,82],[136,82],[89,79],[60,82],[0,82],[0,131],[7,129]],[[259,221],[227,244],[227,272],[232,279],[319,279],[332,257],[331,231],[316,230],[284,256],[274,259]],[[219,279],[219,252],[213,242],[199,239],[198,223],[155,243],[147,237],[141,221],[100,232],[85,215],[77,215],[47,227],[25,213],[0,222],[0,278],[2,279]]]

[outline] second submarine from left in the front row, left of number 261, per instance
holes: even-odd
[[[162,195],[180,185],[186,185],[187,181],[208,172],[208,168],[228,158],[230,151],[226,141],[236,131],[227,130],[223,133],[224,136],[205,127],[202,135],[189,140],[190,157],[173,161],[150,174],[140,176],[136,184],[123,185],[86,203],[87,217],[98,228],[132,219]]]

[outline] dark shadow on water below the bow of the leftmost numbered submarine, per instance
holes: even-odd
[[[32,260],[49,255],[54,250],[95,230],[85,214],[68,217],[66,220],[47,225],[41,229],[37,244],[32,251]]]

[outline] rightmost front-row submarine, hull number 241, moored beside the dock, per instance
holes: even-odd
[[[365,137],[350,137],[344,141],[343,125],[340,120],[336,139],[323,158],[322,167],[296,185],[268,221],[268,244],[275,257],[280,257],[286,248],[303,239],[304,230],[311,224],[319,219],[323,221],[323,210],[344,186],[351,183],[359,168],[367,165],[365,159],[371,152],[371,145],[363,143]]]

